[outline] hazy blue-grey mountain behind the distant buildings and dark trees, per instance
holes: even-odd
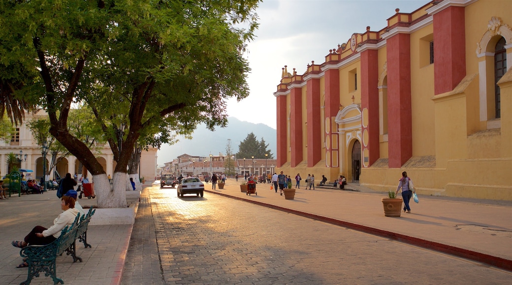
[[[193,139],[179,137],[178,143],[174,145],[164,144],[158,150],[157,164],[162,166],[165,162],[172,161],[182,154],[208,157],[211,154],[219,155],[226,153],[227,140],[231,139],[231,150],[238,152],[238,146],[249,133],[254,133],[258,141],[262,138],[268,144],[270,153],[276,157],[277,136],[276,129],[265,124],[253,124],[243,122],[236,117],[228,117],[226,128],[217,128],[214,132],[206,129],[206,125],[201,124],[192,134]]]

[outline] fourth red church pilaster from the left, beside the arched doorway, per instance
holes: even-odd
[[[337,150],[338,146],[332,145],[332,135],[337,135],[332,133],[331,123],[334,122],[332,117],[336,117],[339,111],[339,69],[332,68],[325,70],[325,108],[324,108],[324,120],[328,121],[328,129],[326,132],[325,141],[329,141],[326,148],[326,161],[330,161],[328,167],[333,167],[333,165],[337,165],[337,163],[333,163],[333,160],[337,158],[332,157],[332,150]],[[327,155],[330,156],[330,159],[327,159]],[[339,167],[339,165],[337,165]]]

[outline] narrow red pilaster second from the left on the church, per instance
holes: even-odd
[[[296,167],[303,159],[302,151],[302,89],[290,89],[290,149],[291,167]]]

